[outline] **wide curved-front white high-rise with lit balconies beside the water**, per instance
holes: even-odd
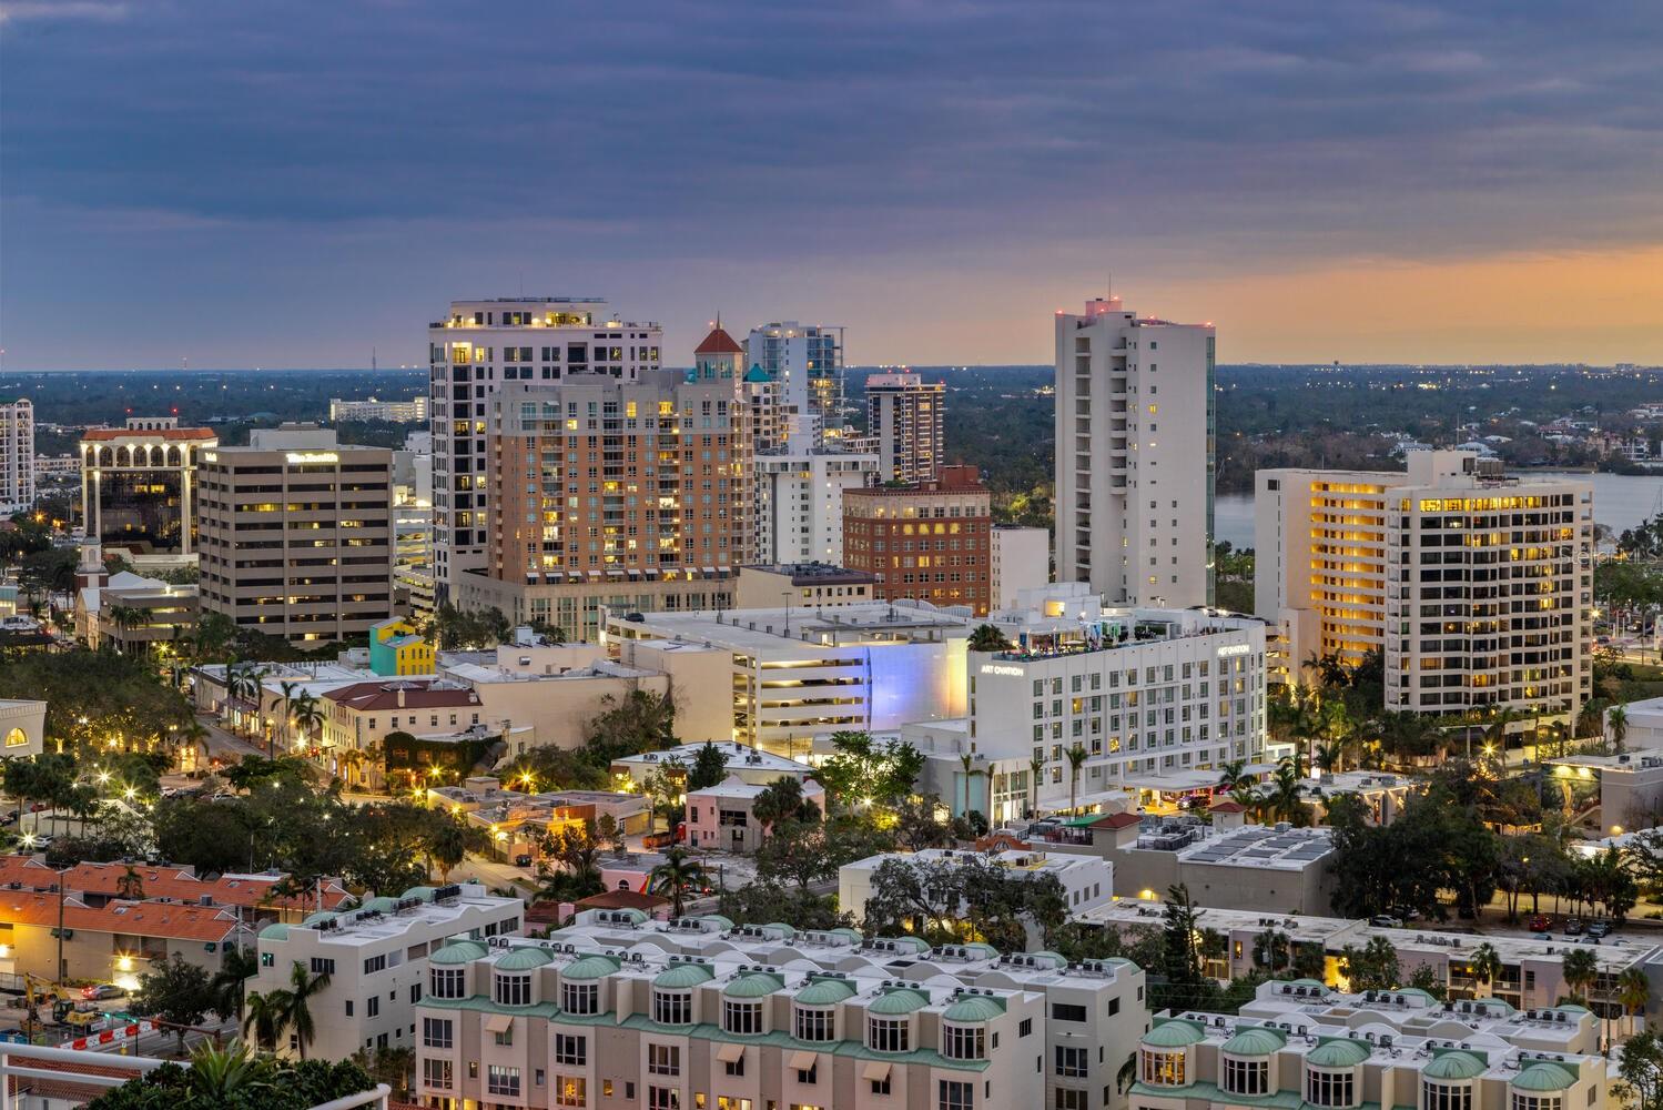
[[[1387,709],[1575,714],[1593,694],[1593,486],[1470,451],[1407,464],[1259,471],[1254,607],[1281,627],[1279,677],[1379,651]]]

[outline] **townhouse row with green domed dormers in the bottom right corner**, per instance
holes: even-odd
[[[1608,1062],[1580,1005],[1518,1012],[1424,990],[1339,995],[1271,980],[1241,1015],[1156,1018],[1137,1045],[1134,1110],[1577,1110],[1611,1105]]]

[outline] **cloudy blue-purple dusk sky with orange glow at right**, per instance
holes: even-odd
[[[1224,363],[1663,364],[1660,57],[1655,0],[0,0],[3,368],[522,293],[1049,363],[1111,281]]]

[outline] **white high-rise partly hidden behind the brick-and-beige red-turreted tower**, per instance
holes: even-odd
[[[491,394],[509,381],[634,381],[659,366],[659,325],[624,323],[594,298],[451,301],[427,326],[434,446],[434,574],[442,596],[486,562]]]

